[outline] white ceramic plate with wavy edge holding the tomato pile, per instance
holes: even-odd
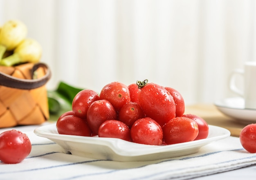
[[[115,161],[148,161],[164,158],[185,156],[213,141],[230,136],[227,129],[209,125],[209,136],[206,139],[195,140],[171,145],[146,145],[128,142],[117,138],[83,137],[58,134],[56,125],[50,124],[34,130],[37,136],[48,138],[59,144],[64,153],[88,158]]]

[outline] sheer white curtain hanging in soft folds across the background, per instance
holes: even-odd
[[[213,103],[236,96],[231,71],[256,61],[255,0],[0,0],[0,24],[10,19],[42,45],[49,89],[148,79]]]

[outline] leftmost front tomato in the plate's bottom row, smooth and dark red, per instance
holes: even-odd
[[[74,115],[67,115],[58,119],[56,128],[59,134],[92,136],[92,131],[86,120]]]

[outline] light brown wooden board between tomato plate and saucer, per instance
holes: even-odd
[[[187,106],[185,114],[195,114],[203,118],[208,124],[223,127],[231,132],[231,136],[239,137],[240,131],[247,124],[241,124],[238,120],[234,120],[221,113],[212,104],[197,104],[193,106]]]

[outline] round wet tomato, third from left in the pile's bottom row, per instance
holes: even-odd
[[[131,127],[132,142],[149,145],[161,145],[163,131],[160,125],[151,118],[138,119]]]

